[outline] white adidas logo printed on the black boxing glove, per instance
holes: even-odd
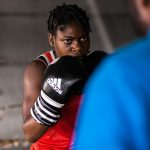
[[[62,93],[60,78],[48,78],[47,83],[59,94]]]

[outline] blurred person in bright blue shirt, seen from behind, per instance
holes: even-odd
[[[86,86],[74,150],[150,150],[150,0],[132,0],[147,34],[109,56]]]

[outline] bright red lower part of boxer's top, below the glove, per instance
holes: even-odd
[[[81,99],[82,95],[70,97],[58,123],[32,144],[30,150],[69,150]]]

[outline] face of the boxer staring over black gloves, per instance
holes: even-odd
[[[74,22],[58,28],[51,38],[57,57],[64,55],[84,56],[90,47],[89,33]]]

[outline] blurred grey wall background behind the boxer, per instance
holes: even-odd
[[[77,4],[90,17],[91,50],[112,53],[140,36],[127,0],[0,0],[0,150],[27,149],[22,133],[22,78],[25,66],[50,49],[49,10]]]

